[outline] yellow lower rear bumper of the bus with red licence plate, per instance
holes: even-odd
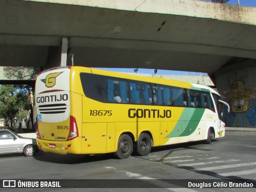
[[[48,141],[36,139],[39,150],[56,154],[81,154],[77,138],[71,141]]]

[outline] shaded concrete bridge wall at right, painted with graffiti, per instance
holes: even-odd
[[[234,61],[214,73],[222,99],[230,105],[226,127],[256,127],[256,59]]]

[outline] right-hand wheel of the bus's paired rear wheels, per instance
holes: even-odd
[[[150,153],[151,147],[152,142],[150,136],[146,133],[142,133],[134,146],[134,151],[139,156],[146,156]]]

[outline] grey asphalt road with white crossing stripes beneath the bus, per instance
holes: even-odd
[[[123,160],[115,159],[113,154],[63,156],[38,152],[34,157],[5,154],[0,155],[0,179],[111,179],[107,184],[116,182],[116,185],[120,186],[115,189],[104,188],[104,180],[98,180],[101,188],[62,188],[47,191],[255,191],[255,188],[186,189],[179,188],[178,180],[174,180],[246,179],[256,184],[255,138],[256,132],[228,131],[224,138],[216,139],[211,144],[194,142],[154,147],[148,156],[131,156]],[[118,182],[117,179],[129,179],[124,180],[129,183]],[[141,181],[141,186],[136,183]],[[174,184],[172,188],[162,188],[169,186],[170,181]],[[133,184],[139,187],[122,188]],[[41,188],[12,191],[45,190]]]

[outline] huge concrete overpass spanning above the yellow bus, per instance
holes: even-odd
[[[0,66],[50,68],[74,55],[88,67],[198,71],[227,100],[235,80],[255,99],[255,18],[256,8],[199,0],[1,0]]]

